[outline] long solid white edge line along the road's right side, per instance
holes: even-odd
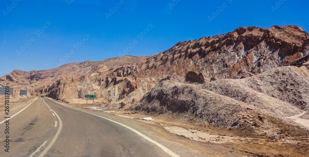
[[[55,102],[55,101],[54,101],[54,102]],[[57,102],[55,102],[55,103],[57,103]],[[57,104],[60,104],[60,103],[57,103]],[[62,105],[62,104],[60,104],[60,105]],[[63,105],[63,106],[65,106],[65,105]],[[65,106],[65,107],[67,107],[67,106]],[[71,107],[68,107],[68,108],[71,108]],[[78,109],[75,109],[75,108],[71,108],[71,109],[78,110]],[[82,110],[78,110],[78,111],[82,111]],[[86,111],[82,111],[82,112],[86,112]],[[89,114],[91,114],[91,115],[95,115],[95,114],[90,113],[90,112],[86,112],[86,113],[89,113]],[[146,135],[142,134],[141,132],[139,132],[139,131],[137,131],[137,130],[131,128],[131,127],[128,127],[128,126],[126,126],[126,125],[124,125],[124,124],[122,124],[122,123],[116,122],[116,121],[114,121],[114,120],[112,120],[112,119],[108,119],[108,118],[105,118],[105,117],[102,117],[102,116],[99,116],[99,115],[96,115],[96,116],[101,117],[101,118],[104,118],[104,119],[107,119],[107,120],[109,120],[109,121],[111,121],[111,122],[117,123],[117,124],[119,124],[119,125],[121,125],[121,126],[123,126],[123,127],[126,127],[126,128],[128,128],[128,129],[130,129],[131,131],[133,131],[133,132],[135,132],[136,134],[142,136],[144,139],[148,140],[149,142],[154,143],[155,145],[157,145],[158,147],[160,147],[163,151],[165,151],[167,154],[171,155],[172,157],[180,157],[179,155],[177,155],[177,154],[174,153],[173,151],[169,150],[167,147],[164,147],[162,144],[160,144],[160,143],[158,143],[158,142],[156,142],[156,141],[150,139],[150,138],[147,137]]]

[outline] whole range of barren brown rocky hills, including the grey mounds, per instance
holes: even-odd
[[[0,84],[55,99],[94,94],[109,102],[137,103],[132,110],[181,113],[231,127],[238,119],[235,114],[259,111],[284,118],[308,110],[308,38],[298,26],[239,27],[178,42],[153,56],[14,70]]]

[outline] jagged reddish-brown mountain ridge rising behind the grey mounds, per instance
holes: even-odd
[[[239,27],[233,32],[179,42],[137,66],[143,77],[173,76],[189,71],[206,78],[244,78],[283,66],[309,54],[309,35],[298,26],[270,29]]]

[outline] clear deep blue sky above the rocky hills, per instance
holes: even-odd
[[[308,31],[308,5],[291,0],[2,0],[0,75],[124,54],[154,55],[179,41],[237,27],[297,25]]]

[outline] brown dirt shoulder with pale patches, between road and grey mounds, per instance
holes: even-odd
[[[153,121],[142,120],[149,117],[146,114],[129,114],[129,112],[114,112],[126,118],[135,118],[144,123],[158,123],[165,130],[181,137],[183,139],[199,141],[203,144],[210,144],[212,147],[224,147],[230,152],[241,154],[243,156],[257,157],[277,157],[277,156],[307,156],[309,153],[309,137],[290,136],[277,139],[260,136],[259,138],[250,138],[240,136],[233,131],[192,122],[182,121],[181,119],[171,118],[169,116],[154,116]],[[200,147],[207,149],[206,145],[200,144]]]

